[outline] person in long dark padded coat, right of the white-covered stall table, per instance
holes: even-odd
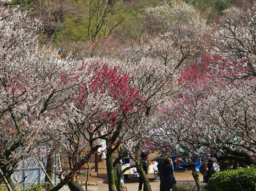
[[[170,191],[172,186],[176,184],[176,180],[173,175],[173,166],[170,159],[165,159],[162,168],[162,180],[160,182],[160,191]]]

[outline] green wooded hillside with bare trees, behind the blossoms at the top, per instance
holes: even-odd
[[[172,19],[173,24],[176,21],[176,26],[183,22],[179,21],[181,15],[191,20],[199,17],[194,22],[198,25],[195,28],[201,30],[199,25],[210,26],[228,11],[252,4],[246,0],[187,0],[178,3],[182,9],[172,8],[172,12],[167,12],[175,3],[178,1],[13,0],[4,6],[19,6],[19,10],[29,11],[30,17],[41,16],[44,23],[39,32],[41,44],[51,44],[60,51],[65,49],[65,53],[72,51],[80,58],[113,55],[136,59],[149,54],[144,49],[150,40],[170,32],[166,28],[170,26],[157,20],[157,14],[165,14],[164,19]],[[162,12],[147,12],[156,7]]]

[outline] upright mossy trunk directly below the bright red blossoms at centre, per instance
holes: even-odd
[[[107,153],[106,153],[106,165],[107,165],[107,174],[108,174],[108,190],[109,191],[116,191],[115,173],[114,173],[112,157],[113,157],[112,148],[108,148]]]

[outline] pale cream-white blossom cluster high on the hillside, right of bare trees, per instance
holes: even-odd
[[[175,66],[179,66],[202,51],[199,40],[204,36],[206,21],[193,6],[184,1],[165,2],[144,11],[143,16],[153,17],[164,32],[149,41],[145,48],[149,55],[159,57],[164,64],[176,61]]]

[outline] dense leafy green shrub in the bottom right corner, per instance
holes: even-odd
[[[205,189],[206,191],[256,191],[256,167],[215,173]]]

